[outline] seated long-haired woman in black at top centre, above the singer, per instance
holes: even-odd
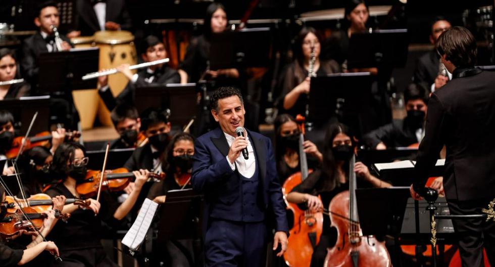
[[[203,34],[193,38],[187,47],[184,60],[179,66],[179,73],[183,82],[197,82],[199,80],[216,79],[226,83],[239,78],[239,71],[235,68],[210,70],[210,39],[212,33],[224,32],[227,28],[227,13],[220,3],[208,6],[205,16]]]

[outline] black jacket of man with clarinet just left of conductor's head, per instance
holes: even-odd
[[[435,51],[421,56],[416,62],[416,69],[414,69],[414,82],[421,84],[430,92],[431,84],[435,83],[435,78],[438,76],[439,64],[440,61]]]

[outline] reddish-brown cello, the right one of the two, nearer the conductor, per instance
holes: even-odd
[[[363,236],[359,225],[356,204],[356,156],[349,163],[349,191],[338,193],[330,202],[331,226],[337,229],[337,242],[327,248],[323,266],[380,266],[391,265],[390,255],[385,242],[379,242],[374,236]]]

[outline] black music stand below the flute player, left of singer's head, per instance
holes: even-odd
[[[186,125],[197,113],[195,83],[137,87],[135,92],[139,113],[150,107],[168,108],[172,125]]]

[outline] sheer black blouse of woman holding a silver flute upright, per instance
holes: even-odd
[[[327,74],[337,72],[340,72],[340,67],[334,60],[320,61],[320,67],[316,71],[316,76],[326,76]],[[283,73],[281,78],[281,94],[276,106],[281,113],[288,113],[293,117],[298,114],[304,115],[306,113],[306,103],[308,102],[306,95],[301,94],[294,106],[287,110],[283,108],[283,101],[285,96],[292,91],[295,86],[298,86],[308,77],[308,70],[295,60],[285,68]]]

